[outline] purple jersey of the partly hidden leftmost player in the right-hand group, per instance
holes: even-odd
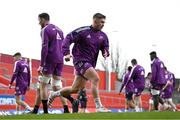
[[[133,84],[133,80],[129,80],[129,75],[130,75],[130,72],[127,72],[125,75],[124,75],[124,78],[123,78],[123,84],[122,84],[122,87],[124,87],[125,85],[125,92],[129,93],[129,92],[134,92],[134,84]]]

